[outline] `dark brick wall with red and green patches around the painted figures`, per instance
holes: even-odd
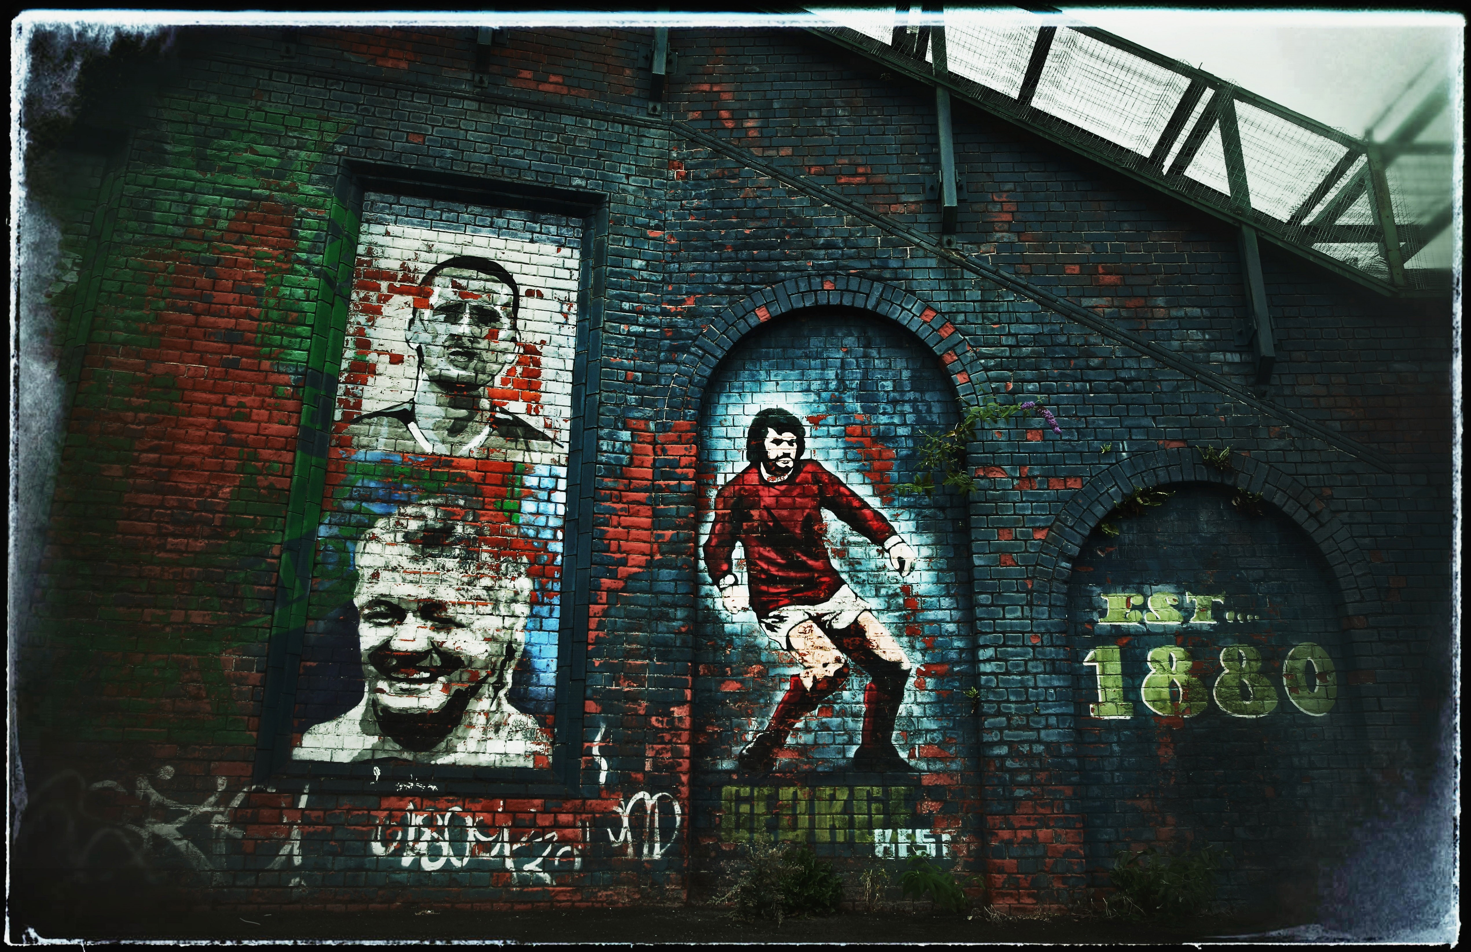
[[[1259,901],[1292,874],[1259,848],[1264,831],[1303,809],[1318,828],[1356,828],[1422,783],[1449,696],[1442,303],[1380,299],[1268,252],[1280,356],[1250,394],[1228,227],[959,109],[959,250],[1025,283],[1003,290],[934,247],[925,90],[811,38],[677,31],[678,71],[650,116],[649,41],[509,31],[477,78],[468,29],[307,29],[290,50],[277,31],[185,32],[177,62],[149,74],[154,91],[115,110],[127,138],[113,178],[49,185],[54,203],[101,215],[60,216],[63,247],[88,249],[75,287],[94,291],[78,293],[69,325],[82,359],[54,494],[35,502],[49,528],[19,668],[29,806],[16,856],[43,870],[38,889],[131,883],[254,909],[680,902],[706,895],[741,831],[768,824],[855,870],[875,845],[896,859],[943,849],[991,901],[1022,906],[1083,901],[1115,846],[1189,828],[1231,852],[1230,896]],[[282,753],[365,696],[362,606],[346,605],[357,578],[319,525],[344,500],[394,502],[427,471],[474,483],[480,461],[509,459],[410,465],[405,446],[359,461],[371,491],[355,496],[331,443],[334,421],[340,436],[366,409],[355,387],[415,365],[359,333],[363,303],[390,291],[352,274],[396,227],[382,203],[410,199],[499,209],[515,240],[553,219],[578,231],[566,287],[519,299],[575,297],[560,312],[575,315],[574,356],[556,358],[562,369],[547,358],[537,378],[566,408],[566,550],[546,572],[558,583],[541,589],[543,624],[528,625],[540,647],[510,686],[553,734],[530,772],[297,768]],[[1102,324],[1039,305],[1046,294]],[[522,347],[518,366],[533,356]],[[741,421],[799,391],[802,416],[828,415],[809,419],[818,458],[905,514],[922,556],[909,606],[868,543],[828,536],[916,664],[894,740],[919,770],[899,780],[834,767],[856,743],[858,678],[797,727],[791,770],[731,770],[799,667],[750,615],[724,614],[699,546]],[[921,436],[958,419],[955,397],[1041,399],[1062,434],[1025,415],[984,427],[968,499],[891,494],[915,475]],[[1234,475],[1212,475],[1197,446],[1230,446]],[[1224,489],[1193,489],[1212,481]],[[1302,633],[1253,634],[1271,634],[1272,678],[1290,643],[1333,656],[1321,742],[1294,733],[1306,715],[1287,700],[1259,721],[1212,708],[1175,724],[1140,697],[1128,727],[1087,717],[1083,652],[1102,642],[1086,625],[1105,602],[1074,569],[1127,561],[1097,555],[1096,527],[1136,484],[1186,489],[1124,522],[1144,550],[1130,584],[1203,577],[1244,599],[1221,611],[1256,615],[1264,586],[1296,572]],[[1237,486],[1264,494],[1249,530],[1211,494]],[[1267,552],[1264,533],[1280,539]],[[1219,650],[1214,630],[1200,637]],[[1122,649],[1125,681],[1150,639]],[[1209,652],[1196,656],[1214,681]],[[1278,784],[1314,743],[1333,752],[1312,783]],[[1233,745],[1252,746],[1250,765],[1184,777],[1194,752]],[[1161,789],[1194,783],[1214,784],[1219,809],[1184,823],[1161,806]],[[1355,795],[1319,800],[1325,784]],[[1242,805],[1272,820],[1246,821],[1231,812]]]

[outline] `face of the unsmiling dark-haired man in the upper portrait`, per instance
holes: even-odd
[[[449,391],[493,386],[515,359],[515,291],[469,268],[446,268],[431,287],[427,300],[415,302],[407,333],[419,350],[424,378]]]

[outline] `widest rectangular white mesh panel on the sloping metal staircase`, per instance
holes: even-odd
[[[1189,85],[1180,74],[1064,28],[1052,41],[1031,104],[1149,154]]]

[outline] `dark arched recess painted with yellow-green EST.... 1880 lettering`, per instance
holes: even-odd
[[[1311,883],[1359,780],[1333,575],[1249,493],[1162,489],[1087,539],[1068,586],[1096,883],[1121,849],[1208,843],[1230,856],[1230,898],[1286,871]]]

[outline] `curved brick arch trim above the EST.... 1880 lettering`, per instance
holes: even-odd
[[[1362,630],[1380,614],[1378,592],[1368,559],[1321,499],[1281,469],[1243,456],[1231,458],[1233,469],[1221,472],[1205,465],[1190,447],[1139,453],[1109,466],[1078,490],[1053,519],[1033,566],[1031,619],[1039,631],[1061,633],[1066,625],[1066,589],[1072,559],[1093,527],[1133,487],[1169,483],[1217,483],[1261,493],[1262,502],[1281,509],[1296,522],[1327,559],[1339,586],[1343,627]],[[1361,640],[1362,636],[1353,640]]]

